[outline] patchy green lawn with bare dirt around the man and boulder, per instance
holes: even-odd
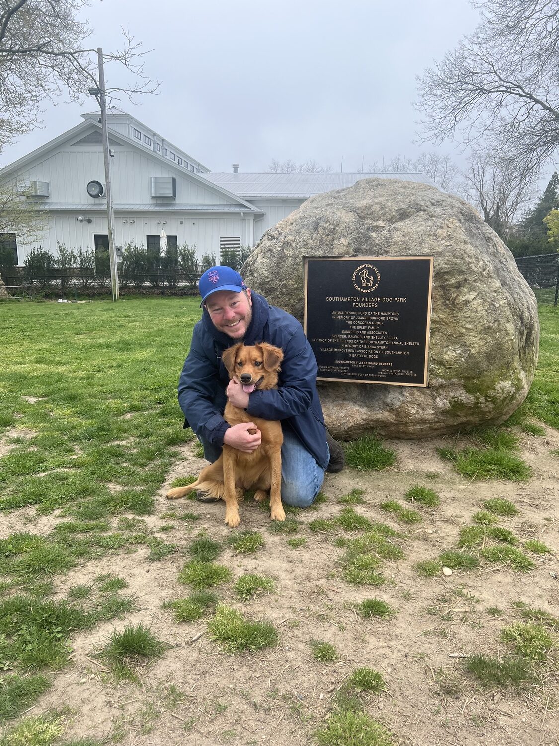
[[[0,746],[551,743],[559,310],[503,427],[370,436],[312,510],[247,498],[239,531],[164,497],[201,464],[177,404],[199,317],[0,305]]]

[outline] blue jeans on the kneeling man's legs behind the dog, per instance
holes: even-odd
[[[203,455],[210,463],[217,461],[221,448],[200,439]],[[291,430],[283,431],[282,502],[296,508],[308,508],[320,492],[324,469],[320,468],[300,439]]]

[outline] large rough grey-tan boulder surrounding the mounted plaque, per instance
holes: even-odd
[[[473,207],[396,179],[307,200],[262,236],[243,268],[247,286],[301,322],[305,255],[435,257],[429,387],[319,382],[334,436],[435,436],[500,424],[522,403],[537,361],[537,303]]]

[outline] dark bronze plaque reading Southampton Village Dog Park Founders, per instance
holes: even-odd
[[[318,380],[427,386],[433,257],[305,257]]]

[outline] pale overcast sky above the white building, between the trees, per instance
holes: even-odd
[[[355,171],[417,156],[415,76],[479,22],[467,0],[93,0],[91,46],[114,50],[120,26],[146,49],[160,93],[121,108],[212,171],[265,171],[309,158]],[[106,68],[107,86],[123,80]],[[77,125],[95,101],[45,104],[44,128],[2,165]],[[438,148],[456,160],[452,145]]]

